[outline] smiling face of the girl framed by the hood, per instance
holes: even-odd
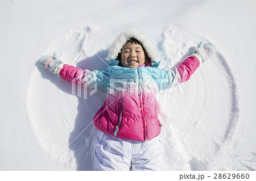
[[[145,63],[143,48],[139,44],[126,43],[121,52],[121,64],[126,68],[137,68]]]

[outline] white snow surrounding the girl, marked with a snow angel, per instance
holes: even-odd
[[[165,170],[256,170],[254,1],[0,2],[0,170],[93,170],[92,119],[105,95],[72,95],[71,83],[36,60],[104,70],[109,45],[130,27],[172,68],[201,40],[217,46],[192,78],[158,95]],[[104,61],[102,61],[104,60]]]

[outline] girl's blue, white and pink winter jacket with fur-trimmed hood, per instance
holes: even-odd
[[[119,61],[112,58],[117,57],[129,37],[135,37],[144,43],[146,51],[152,49],[143,40],[144,36],[136,36],[136,33],[130,33],[132,36],[129,33],[119,35],[122,39],[115,40],[114,46],[110,48],[109,66],[105,70],[82,70],[64,64],[59,75],[76,85],[106,87],[104,105],[93,118],[96,128],[118,138],[144,141],[160,134],[156,93],[175,85],[177,81],[187,81],[198,68],[199,61],[196,57],[187,57],[174,70],[159,69],[160,62],[155,61],[151,62],[151,66],[141,65],[138,68],[118,66]],[[154,56],[152,51],[148,54]]]

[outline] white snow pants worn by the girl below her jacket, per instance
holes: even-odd
[[[159,138],[123,140],[98,130],[94,138],[94,170],[162,170]]]

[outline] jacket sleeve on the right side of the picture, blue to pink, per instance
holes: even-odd
[[[187,57],[178,67],[173,69],[158,69],[152,71],[151,75],[155,79],[159,88],[168,88],[174,86],[177,82],[185,82],[199,67],[200,62],[196,57]]]

